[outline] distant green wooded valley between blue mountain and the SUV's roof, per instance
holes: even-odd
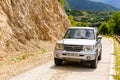
[[[73,20],[78,23],[78,26],[99,27],[110,19],[113,12],[72,10],[67,11],[67,14],[73,16]]]

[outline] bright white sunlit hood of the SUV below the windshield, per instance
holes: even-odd
[[[60,44],[67,45],[95,45],[96,40],[87,40],[87,39],[63,39],[58,41]]]

